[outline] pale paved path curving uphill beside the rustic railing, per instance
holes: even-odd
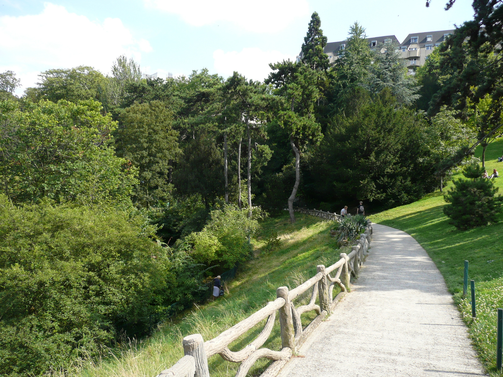
[[[444,279],[408,234],[374,224],[360,277],[281,377],[485,375]]]

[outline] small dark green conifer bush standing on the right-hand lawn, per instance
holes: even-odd
[[[501,198],[494,197],[498,188],[491,179],[481,178],[484,169],[478,164],[468,165],[463,175],[469,179],[455,179],[454,189],[444,194],[447,204],[444,214],[458,229],[470,229],[495,223],[501,213]]]

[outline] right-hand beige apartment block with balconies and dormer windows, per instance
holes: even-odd
[[[407,62],[408,74],[414,74],[415,69],[425,64],[428,55],[438,47],[454,30],[415,33],[407,35],[400,44],[402,58]]]

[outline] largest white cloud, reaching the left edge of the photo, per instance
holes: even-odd
[[[0,17],[2,67],[15,71],[23,87],[37,81],[34,72],[90,65],[106,73],[119,55],[139,61],[150,51],[150,43],[136,40],[118,18],[93,22],[51,3],[38,15]]]

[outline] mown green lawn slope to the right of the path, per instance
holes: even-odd
[[[503,163],[496,162],[502,150],[501,139],[487,147],[485,166],[489,174],[496,168],[503,176]],[[477,149],[476,156],[481,154],[481,149]],[[503,194],[503,177],[494,179],[494,183]],[[503,307],[503,222],[459,231],[449,225],[449,219],[442,212],[444,205],[442,194],[436,192],[370,218],[407,232],[428,251],[454,295],[480,360],[491,375],[503,375],[495,369],[496,309]],[[469,278],[475,280],[476,320],[471,318],[469,298],[462,297],[464,260],[469,261]]]

